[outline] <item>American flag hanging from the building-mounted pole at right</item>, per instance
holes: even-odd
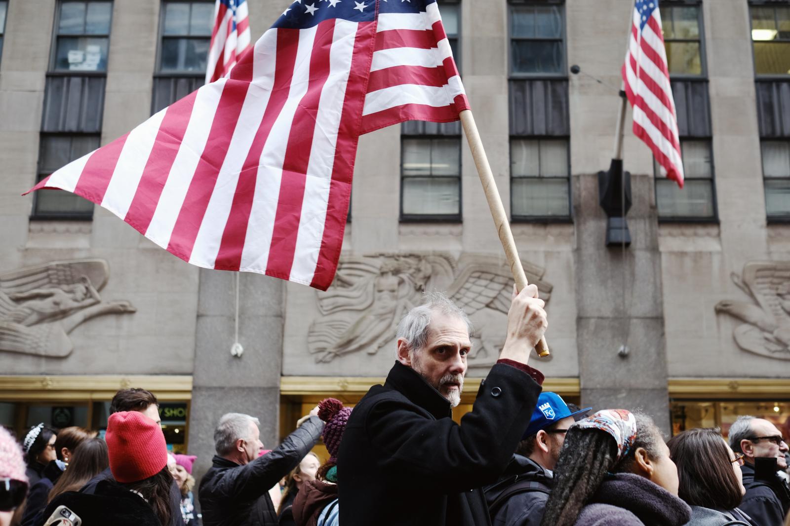
[[[633,15],[623,81],[634,107],[634,134],[653,150],[661,173],[682,188],[683,159],[658,0],[636,0]]]

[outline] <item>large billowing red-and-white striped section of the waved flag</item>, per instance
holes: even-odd
[[[269,29],[231,77],[32,190],[77,193],[194,265],[325,290],[340,256],[374,43],[374,22]]]

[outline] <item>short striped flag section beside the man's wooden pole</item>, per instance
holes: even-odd
[[[436,2],[379,13],[362,132],[398,122],[453,122],[470,109]]]

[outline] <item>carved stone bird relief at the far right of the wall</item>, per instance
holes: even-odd
[[[750,261],[732,282],[751,302],[725,299],[714,307],[743,321],[732,336],[739,348],[770,358],[790,360],[790,262]]]

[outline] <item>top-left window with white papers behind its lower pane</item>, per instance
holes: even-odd
[[[107,71],[112,2],[61,2],[52,71]]]

